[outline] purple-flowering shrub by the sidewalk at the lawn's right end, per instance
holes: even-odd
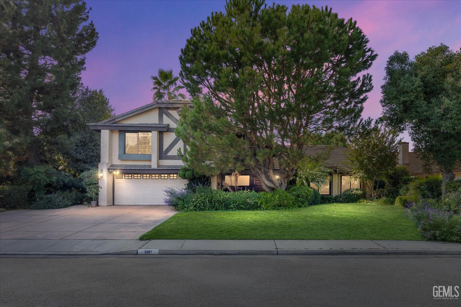
[[[405,209],[426,240],[461,242],[461,214],[437,209],[427,200],[410,203]]]

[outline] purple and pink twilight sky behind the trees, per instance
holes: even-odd
[[[440,43],[454,50],[461,47],[461,1],[457,0],[275,2],[289,7],[296,3],[327,5],[339,17],[357,20],[378,53],[370,69],[374,89],[365,104],[364,117],[381,114],[384,66],[395,50],[407,51],[413,57]],[[211,12],[223,11],[225,1],[89,0],[87,4],[100,39],[87,54],[83,83],[102,88],[119,114],[151,102],[150,75],[159,68],[173,69],[178,75],[178,56],[190,29]],[[411,142],[407,134],[402,136]]]

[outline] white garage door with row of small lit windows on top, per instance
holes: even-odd
[[[164,205],[166,187],[183,188],[187,180],[177,174],[118,174],[114,185],[115,205]]]

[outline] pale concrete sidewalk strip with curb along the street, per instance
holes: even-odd
[[[2,239],[3,255],[461,255],[461,243],[387,240]]]

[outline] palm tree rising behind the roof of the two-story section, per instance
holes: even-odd
[[[179,77],[173,76],[173,70],[163,70],[159,69],[157,75],[151,75],[152,79],[152,91],[154,91],[154,96],[152,100],[172,100],[172,99],[186,99],[186,96],[182,93],[178,93],[180,89],[184,87],[182,85],[177,85]]]

